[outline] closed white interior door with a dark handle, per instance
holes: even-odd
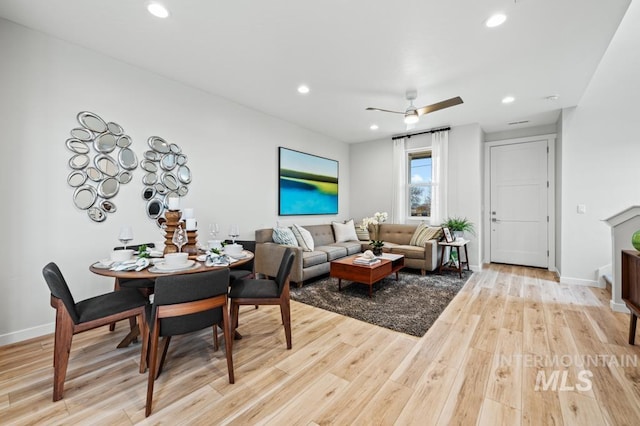
[[[547,268],[547,141],[493,146],[491,262]]]

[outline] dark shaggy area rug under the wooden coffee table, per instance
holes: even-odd
[[[356,318],[391,330],[422,337],[462,289],[471,272],[462,279],[458,274],[439,275],[400,272],[369,286],[342,281],[338,291],[337,278],[319,278],[302,288],[291,287],[291,299],[327,311]]]

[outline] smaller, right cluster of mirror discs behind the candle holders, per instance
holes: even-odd
[[[142,198],[146,201],[147,216],[161,226],[169,198],[184,197],[189,192],[191,169],[187,166],[187,156],[175,143],[151,136],[147,144],[149,150],[144,152],[144,159],[140,161],[140,168],[145,172]]]

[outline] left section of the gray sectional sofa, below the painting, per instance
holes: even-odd
[[[329,273],[332,260],[360,253],[361,241],[336,243],[331,224],[305,225],[311,233],[314,250],[303,251],[296,247],[296,258],[291,269],[290,281],[301,287],[305,280]],[[255,271],[257,274],[275,277],[286,247],[273,242],[273,229],[256,230]]]

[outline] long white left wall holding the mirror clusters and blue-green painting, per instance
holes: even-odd
[[[49,261],[58,263],[80,300],[113,288],[111,279],[88,267],[119,245],[121,225],[133,226],[136,242],[161,238],[145,214],[141,169],[121,187],[113,199],[118,210],[105,222],[90,221],[73,205],[65,140],[78,125],[79,111],[123,126],[139,159],[152,135],[182,147],[193,174],[182,206],[195,209],[201,235],[214,220],[223,233],[238,223],[242,239],[275,224],[278,146],[340,162],[339,215],[287,220],[349,217],[344,143],[1,19],[0,52],[0,344],[53,330],[54,310],[41,274]]]

